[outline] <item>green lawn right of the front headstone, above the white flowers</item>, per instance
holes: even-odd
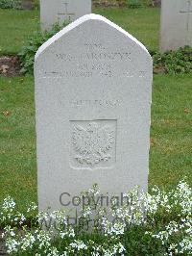
[[[192,185],[192,74],[156,75],[152,105],[150,186]]]

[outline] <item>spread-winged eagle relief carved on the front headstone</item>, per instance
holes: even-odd
[[[110,149],[114,143],[114,130],[109,125],[101,127],[96,122],[88,123],[85,128],[74,125],[72,142],[78,163],[95,166],[111,159]]]

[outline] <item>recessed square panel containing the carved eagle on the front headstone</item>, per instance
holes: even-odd
[[[73,121],[72,158],[76,166],[107,167],[114,162],[115,120]]]

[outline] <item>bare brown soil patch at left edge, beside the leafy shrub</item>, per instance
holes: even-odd
[[[2,56],[0,57],[0,76],[19,76],[20,62],[17,56]]]

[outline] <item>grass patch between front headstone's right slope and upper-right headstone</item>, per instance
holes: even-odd
[[[158,50],[160,11],[158,8],[96,9],[140,40],[147,49]]]

